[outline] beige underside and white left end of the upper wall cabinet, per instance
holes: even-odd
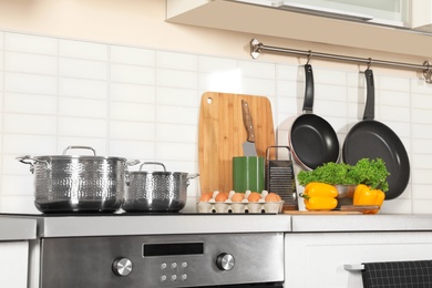
[[[276,9],[271,7],[274,2],[281,1],[263,6],[228,0],[166,0],[166,21],[245,32],[254,38],[268,35],[430,56],[432,37],[428,33]],[[416,25],[420,24],[418,21]]]

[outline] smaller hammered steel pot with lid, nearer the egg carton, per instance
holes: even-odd
[[[142,171],[144,165],[160,165],[162,171]],[[144,162],[140,171],[128,172],[122,208],[126,212],[179,212],[186,205],[189,179],[198,174],[166,172],[160,162]]]

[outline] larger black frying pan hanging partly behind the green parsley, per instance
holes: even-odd
[[[343,143],[343,161],[354,165],[361,158],[382,158],[390,175],[385,199],[394,199],[407,188],[410,178],[410,161],[398,135],[387,125],[374,121],[374,83],[372,70],[364,71],[367,100],[363,121],[347,134]]]

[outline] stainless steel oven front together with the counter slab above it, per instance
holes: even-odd
[[[41,215],[30,288],[282,287],[280,215]]]

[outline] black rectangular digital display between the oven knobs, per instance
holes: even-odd
[[[204,254],[204,243],[143,244],[143,256],[174,256]]]

